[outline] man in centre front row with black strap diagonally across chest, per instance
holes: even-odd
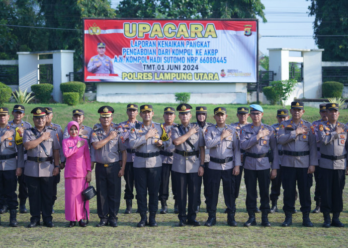
[[[200,226],[196,221],[196,203],[199,194],[199,177],[204,174],[205,143],[202,128],[190,124],[192,106],[180,104],[176,111],[179,112],[181,124],[172,128],[172,140],[175,145],[172,171],[177,192],[179,226],[186,224]],[[186,215],[186,202],[188,193],[188,208]]]

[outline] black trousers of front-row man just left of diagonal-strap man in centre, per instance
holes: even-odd
[[[149,211],[157,212],[162,166],[154,168],[133,168],[133,171],[139,212],[146,212],[148,210],[147,194],[149,194]]]

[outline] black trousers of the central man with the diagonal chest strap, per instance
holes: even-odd
[[[177,207],[179,214],[177,217],[179,220],[183,221],[193,221],[196,219],[195,207],[197,206],[194,203],[197,203],[197,198],[199,197],[199,178],[198,173],[179,173],[173,172],[177,193]],[[188,194],[188,206],[187,206],[187,215],[186,215],[186,203],[187,203],[187,194]]]

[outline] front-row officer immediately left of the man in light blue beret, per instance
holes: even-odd
[[[227,206],[227,223],[236,227],[236,176],[240,173],[241,152],[238,133],[231,125],[226,125],[226,108],[214,109],[215,125],[208,126],[205,131],[205,144],[209,150],[209,217],[205,226],[216,224],[216,206],[218,203],[220,181],[222,180],[225,204]]]

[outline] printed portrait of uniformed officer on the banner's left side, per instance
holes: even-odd
[[[92,73],[113,74],[113,66],[111,59],[105,55],[105,43],[99,42],[96,51],[98,55],[90,58],[87,70]]]

